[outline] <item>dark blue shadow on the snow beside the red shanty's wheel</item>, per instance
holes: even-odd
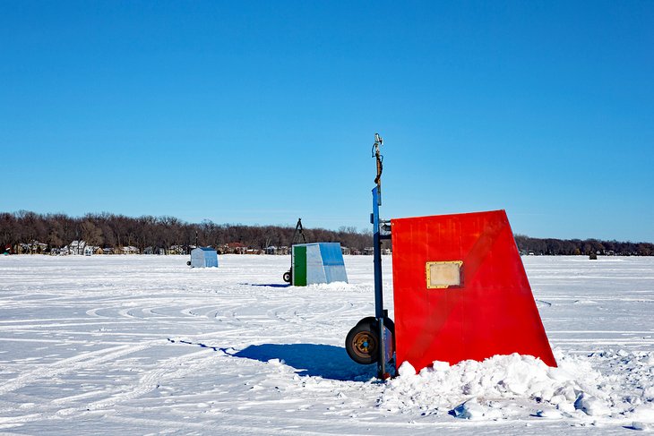
[[[365,381],[374,378],[377,366],[354,363],[345,348],[319,344],[262,344],[248,346],[234,357],[268,362],[280,359],[297,370],[298,375],[332,380]]]

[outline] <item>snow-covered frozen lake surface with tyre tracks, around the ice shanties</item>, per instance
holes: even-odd
[[[374,313],[372,257],[346,257],[349,285],[307,287],[282,285],[288,257],[186,260],[0,257],[0,432],[654,429],[654,258],[523,258],[559,369],[496,356],[386,383],[343,348]]]

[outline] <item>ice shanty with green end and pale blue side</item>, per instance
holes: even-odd
[[[348,282],[340,243],[295,244],[291,256],[293,286]]]

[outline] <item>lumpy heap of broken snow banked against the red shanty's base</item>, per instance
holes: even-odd
[[[386,384],[379,406],[392,413],[469,420],[620,420],[633,429],[654,423],[654,353],[580,356],[556,350],[555,355],[558,368],[528,355],[452,366],[435,362],[418,373],[405,362]]]

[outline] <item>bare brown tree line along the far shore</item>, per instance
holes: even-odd
[[[18,252],[16,248],[20,244],[30,244],[34,252],[50,252],[83,240],[86,244],[105,248],[133,246],[143,252],[146,247],[153,247],[167,252],[173,246],[195,244],[197,235],[197,243],[203,246],[239,243],[261,250],[271,245],[290,246],[294,230],[295,227],[216,224],[209,220],[190,224],[175,217],[130,218],[99,213],[73,218],[61,213],[38,214],[20,210],[0,213],[0,249],[9,247],[12,252]],[[342,246],[357,251],[373,244],[372,233],[359,232],[356,227],[340,227],[337,231],[305,228],[305,236],[309,242],[340,242]],[[515,235],[515,241],[523,254],[654,255],[654,244],[650,243],[541,239],[526,235]]]

